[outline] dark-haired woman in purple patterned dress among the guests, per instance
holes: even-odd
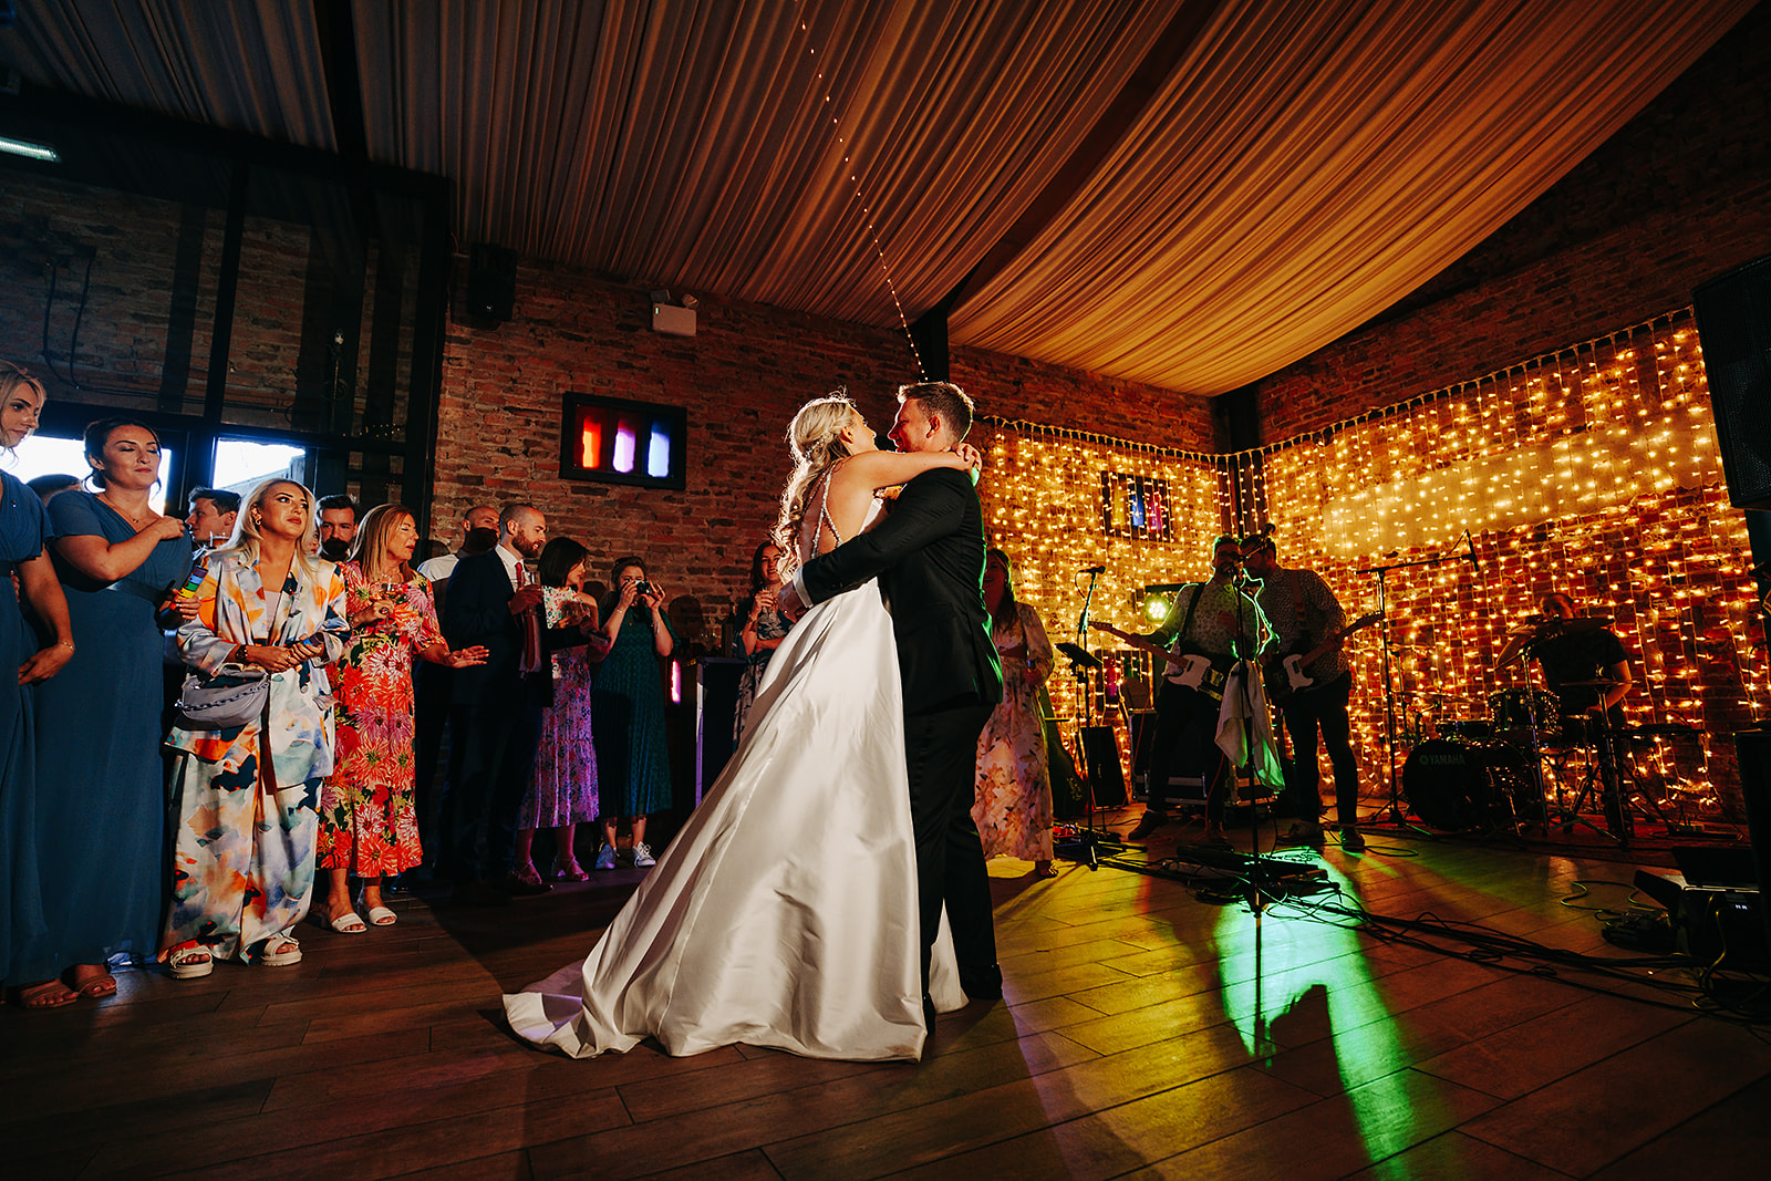
[[[517,876],[540,882],[535,869],[535,830],[553,829],[554,878],[583,882],[572,839],[577,825],[597,818],[597,749],[590,726],[592,669],[609,652],[597,627],[597,602],[584,597],[590,551],[568,536],[542,549],[537,577],[549,625],[576,625],[586,643],[553,653],[554,703],[542,714],[542,740],[535,751],[535,777],[517,816]]]

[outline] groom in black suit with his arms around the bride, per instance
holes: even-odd
[[[891,441],[900,452],[949,452],[972,427],[972,400],[946,381],[898,388]],[[990,876],[972,823],[978,735],[1002,699],[1002,673],[983,597],[985,522],[963,471],[924,471],[875,529],[802,565],[779,590],[783,607],[811,607],[878,577],[903,676],[910,825],[923,924],[923,1011],[928,961],[947,907],[960,984],[974,1000],[1002,995],[990,922]]]

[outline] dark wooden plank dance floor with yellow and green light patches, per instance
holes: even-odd
[[[1560,899],[1628,866],[1392,838],[1323,861],[1374,912],[1626,954]],[[942,1016],[921,1064],[517,1045],[499,993],[579,958],[632,869],[306,926],[294,969],[120,972],[112,1000],[0,1013],[5,1174],[1766,1176],[1753,1030],[1165,878],[1027,868],[992,862],[1008,999]]]

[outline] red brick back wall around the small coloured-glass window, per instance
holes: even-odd
[[[457,290],[464,287],[457,271]],[[806,398],[848,386],[884,428],[893,390],[914,377],[898,331],[703,297],[694,338],[652,331],[641,287],[524,262],[515,319],[476,326],[453,308],[443,363],[434,531],[482,501],[524,498],[549,529],[600,561],[645,554],[671,595],[696,597],[708,632],[744,593],[751,552],[774,522],[788,471],[785,430]],[[1210,407],[1151,386],[1100,379],[978,349],[953,379],[979,411],[1197,448]],[[680,492],[558,478],[567,391],[684,405],[689,480]],[[606,575],[604,575],[606,577]]]

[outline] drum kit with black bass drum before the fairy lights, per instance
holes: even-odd
[[[1606,623],[1610,620],[1599,616],[1528,620],[1512,629],[1493,671],[1523,666],[1537,645],[1555,636]],[[1619,683],[1597,678],[1564,689],[1603,694]],[[1403,765],[1403,793],[1415,816],[1447,832],[1509,832],[1514,838],[1528,825],[1560,823],[1571,830],[1582,823],[1619,845],[1629,843],[1615,735],[1605,710],[1594,706],[1566,715],[1555,694],[1530,685],[1498,689],[1488,694],[1486,705],[1486,717],[1435,721],[1431,738],[1424,726],[1417,728],[1417,742]],[[1585,814],[1594,804],[1603,813],[1603,825]]]

